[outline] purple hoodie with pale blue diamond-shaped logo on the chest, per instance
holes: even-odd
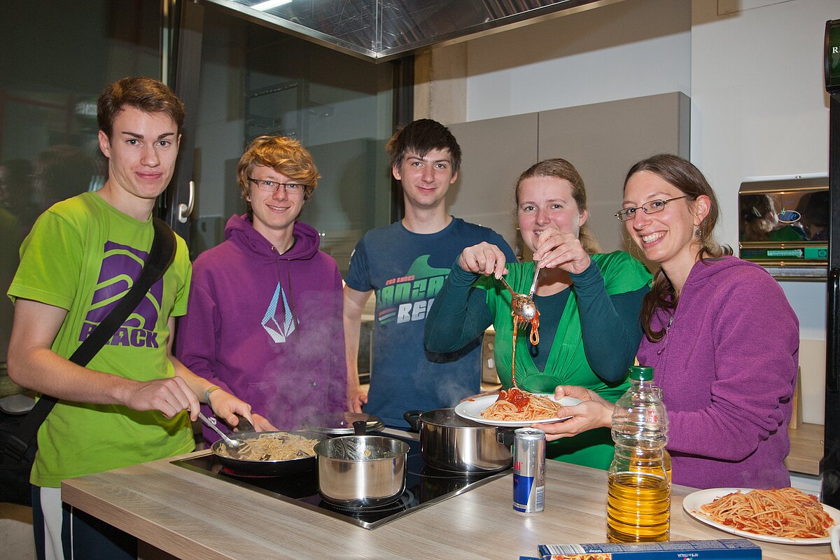
[[[192,267],[177,357],[248,402],[280,430],[347,407],[343,292],[318,232],[294,225],[295,243],[277,254],[246,216]],[[205,411],[207,407],[204,406]],[[207,442],[218,436],[204,429]]]

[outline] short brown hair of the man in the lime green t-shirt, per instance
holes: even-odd
[[[106,87],[97,100],[99,129],[111,138],[113,122],[125,106],[145,113],[166,113],[176,123],[178,133],[184,126],[184,104],[162,81],[145,77],[123,78]]]

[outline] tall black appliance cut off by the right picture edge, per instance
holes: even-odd
[[[826,419],[820,461],[822,502],[840,508],[840,19],[826,22],[825,78],[829,96],[828,186],[831,222],[828,243],[826,326]]]

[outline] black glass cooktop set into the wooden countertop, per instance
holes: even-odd
[[[325,516],[347,521],[365,529],[375,529],[398,517],[463,494],[512,472],[510,468],[495,473],[454,473],[431,468],[423,463],[420,442],[407,436],[387,435],[406,442],[410,447],[406,461],[406,490],[393,503],[372,508],[344,508],[322,500],[318,495],[318,472],[315,468],[308,472],[282,477],[248,476],[236,474],[223,467],[213,453],[172,461],[172,464],[188,468],[196,473],[227,480],[231,484],[237,484],[308,510],[318,511]]]

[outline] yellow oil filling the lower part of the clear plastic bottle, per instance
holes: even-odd
[[[610,474],[606,495],[606,537],[610,542],[667,541],[670,484],[655,474]]]

